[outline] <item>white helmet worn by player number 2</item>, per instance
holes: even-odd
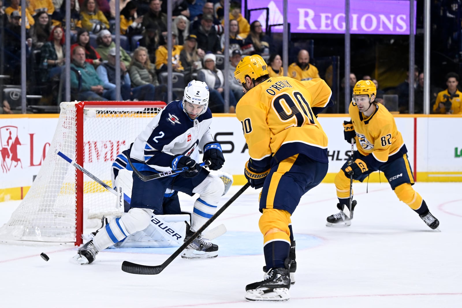
[[[183,110],[184,112],[191,115],[202,115],[207,110],[208,99],[210,93],[208,91],[208,86],[203,81],[191,80],[186,88],[184,88],[183,94]],[[188,104],[203,106],[199,112],[196,108],[188,108]],[[195,106],[197,107],[197,106]]]

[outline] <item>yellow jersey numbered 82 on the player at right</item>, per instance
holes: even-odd
[[[348,112],[356,132],[356,147],[359,153],[367,156],[365,162],[368,166],[377,169],[381,164],[407,153],[395,118],[381,103],[368,118],[353,103],[350,103]]]

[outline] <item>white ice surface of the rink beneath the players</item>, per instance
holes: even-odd
[[[296,284],[288,302],[246,302],[245,285],[264,265],[258,192],[249,188],[212,224],[219,256],[177,258],[158,275],[122,272],[122,261],[163,263],[176,248],[107,249],[91,265],[69,262],[73,246],[0,245],[0,307],[462,307],[462,183],[416,183],[440,221],[428,228],[388,183],[355,183],[358,205],[350,227],[326,227],[338,212],[334,184],[305,194],[292,216]],[[231,187],[222,204],[240,187]],[[184,210],[191,198],[182,195]],[[19,201],[0,203],[0,225]],[[90,232],[93,230],[87,230]],[[40,253],[49,255],[45,262]]]

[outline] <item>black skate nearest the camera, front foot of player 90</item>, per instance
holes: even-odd
[[[283,267],[270,268],[263,281],[245,287],[248,301],[287,301],[290,299],[290,273]]]

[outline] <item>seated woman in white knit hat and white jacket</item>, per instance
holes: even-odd
[[[210,92],[210,100],[208,107],[215,113],[225,112],[225,77],[223,72],[216,68],[215,63],[217,57],[215,54],[206,54],[204,56],[204,67],[197,72],[197,80],[204,81],[208,86]],[[236,97],[234,93],[230,92],[230,113],[236,110]]]

